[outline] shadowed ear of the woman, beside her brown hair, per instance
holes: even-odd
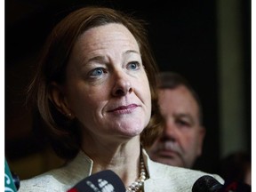
[[[71,109],[68,108],[68,100],[65,92],[63,91],[63,87],[60,84],[53,82],[50,85],[49,99],[61,114],[68,117],[72,116]]]

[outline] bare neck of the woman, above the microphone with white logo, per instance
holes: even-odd
[[[92,158],[92,173],[112,170],[129,186],[140,175],[140,138],[133,138],[127,143],[104,145],[86,143],[84,153]],[[87,148],[85,148],[85,146]],[[92,146],[92,148],[89,148]]]

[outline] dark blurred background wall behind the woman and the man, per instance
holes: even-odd
[[[132,12],[148,21],[160,70],[186,76],[196,88],[207,129],[196,168],[214,172],[236,150],[251,153],[251,1],[5,1],[4,155],[26,179],[62,163],[32,130],[25,88],[54,24],[82,4]]]

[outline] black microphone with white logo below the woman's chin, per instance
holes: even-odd
[[[67,192],[125,192],[125,188],[115,172],[105,170],[79,181]]]

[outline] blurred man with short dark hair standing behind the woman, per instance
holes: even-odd
[[[164,132],[148,154],[159,163],[191,168],[201,156],[204,142],[200,100],[184,77],[172,72],[158,77]]]

